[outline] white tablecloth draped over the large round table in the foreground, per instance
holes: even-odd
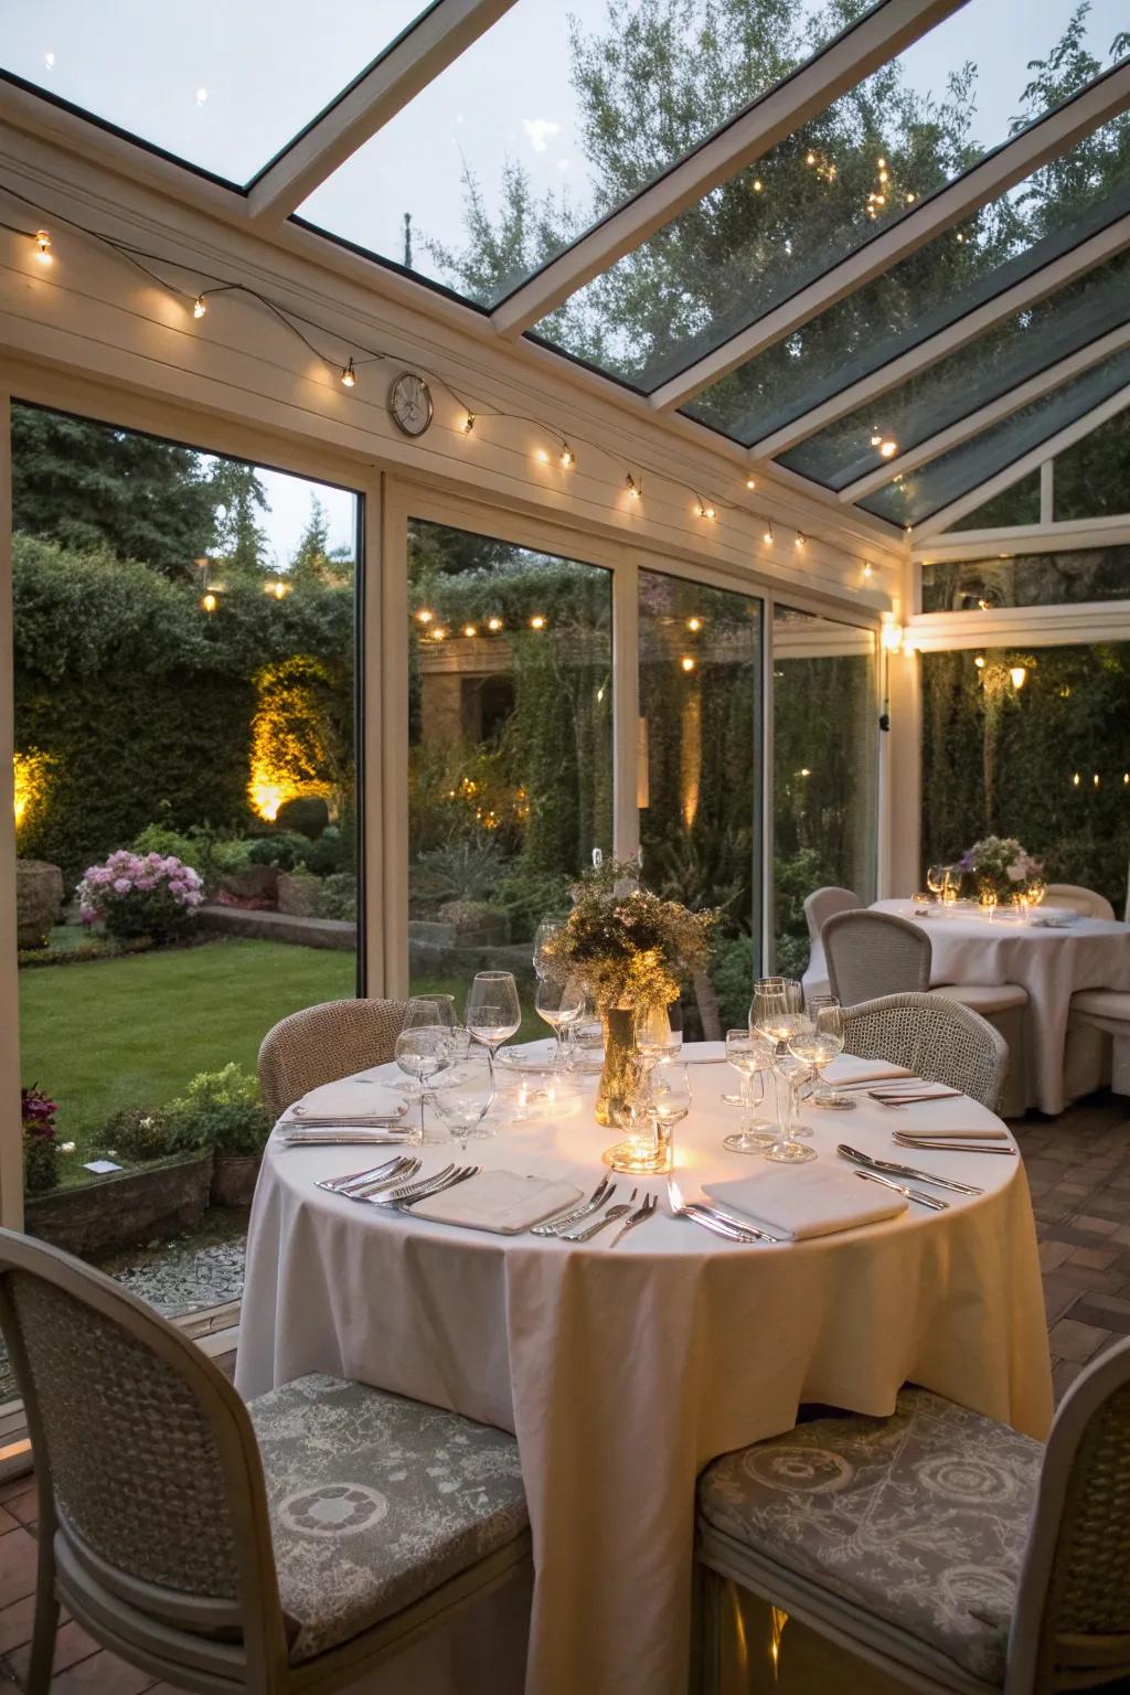
[[[705,1183],[815,1166],[727,1153],[735,1075],[718,1044],[684,1049],[693,1109],[676,1178]],[[837,1061],[840,1064],[840,1061]],[[861,1066],[862,1061],[854,1061]],[[366,1076],[388,1080],[393,1068]],[[835,1071],[835,1068],[834,1068]],[[415,1149],[571,1181],[588,1195],[615,1132],[593,1076],[520,1083],[490,1139]],[[251,1397],[329,1371],[498,1425],[518,1439],[534,1539],[527,1695],[684,1695],[691,1653],[695,1483],[718,1454],[789,1431],[803,1402],[886,1417],[911,1380],[1044,1437],[1052,1390],[1023,1163],[908,1153],[893,1129],[1001,1129],[966,1097],[850,1112],[803,1109],[820,1161],[849,1142],[976,1185],[930,1190],[884,1222],[805,1241],[723,1241],[674,1217],[664,1178],[618,1178],[661,1198],[571,1244],[488,1234],[315,1186],[388,1149],[266,1149],[247,1241],[235,1381]],[[861,1193],[883,1195],[871,1183]],[[452,1192],[456,1193],[456,1192]],[[413,1685],[415,1687],[415,1685]]]

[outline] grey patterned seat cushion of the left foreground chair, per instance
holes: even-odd
[[[379,1624],[522,1536],[503,1431],[341,1378],[249,1402],[293,1663]]]

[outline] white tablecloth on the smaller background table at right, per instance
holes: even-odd
[[[908,900],[878,900],[876,912],[895,912],[918,924],[933,949],[932,983],[1020,983],[1028,992],[1025,1014],[1025,1098],[1042,1112],[1062,1112],[1069,1098],[1096,1088],[1098,1075],[1064,1081],[1067,1009],[1077,988],[1130,990],[1130,927],[1113,919],[1079,919],[1066,929],[1018,924],[1003,914],[932,912],[915,917]]]

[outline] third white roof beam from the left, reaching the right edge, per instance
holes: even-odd
[[[683,405],[739,364],[803,329],[810,319],[862,288],[872,276],[889,271],[906,254],[959,224],[988,200],[1023,181],[1083,136],[1089,136],[1100,124],[1116,117],[1127,105],[1130,105],[1130,59],[1096,78],[1047,117],[1030,124],[1015,141],[989,153],[947,188],[940,188],[913,212],[834,264],[823,276],[800,288],[789,300],[783,300],[764,317],[723,341],[720,347],[696,359],[686,371],[662,383],[651,395],[651,403],[659,412]]]

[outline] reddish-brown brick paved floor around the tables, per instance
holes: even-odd
[[[1040,1237],[1052,1381],[1064,1395],[1083,1366],[1130,1336],[1130,1102],[1096,1097],[1061,1119],[1013,1125]],[[0,1687],[27,1668],[36,1587],[36,1493],[0,1485]],[[64,1615],[66,1619],[66,1615]],[[53,1695],[166,1695],[146,1671],[98,1649],[71,1619],[59,1629]],[[1127,1692],[1128,1685],[1108,1685]]]

